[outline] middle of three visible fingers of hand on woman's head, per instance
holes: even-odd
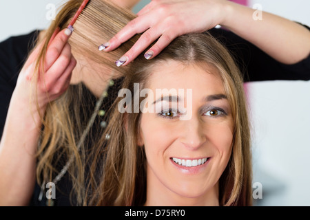
[[[122,58],[126,58],[125,63],[122,65],[127,65],[131,61],[133,61],[139,54],[141,54],[149,45],[151,45],[158,37],[161,36],[161,33],[158,33],[158,29],[156,27],[149,28],[146,32],[144,32],[141,37],[136,41],[136,43],[127,51]],[[120,58],[118,61],[123,61]],[[117,62],[117,61],[116,61]],[[117,63],[116,63],[117,65]]]

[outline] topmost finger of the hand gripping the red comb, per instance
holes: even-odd
[[[50,42],[50,46],[48,47],[48,51],[45,56],[45,72],[50,69],[50,67],[54,64],[54,62],[59,58],[63,47],[68,43],[68,39],[70,38],[70,30],[66,28],[62,30],[54,37],[53,41]],[[71,32],[72,33],[72,32]]]

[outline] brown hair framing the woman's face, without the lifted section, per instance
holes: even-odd
[[[234,120],[234,140],[227,168],[219,179],[221,206],[251,205],[251,151],[247,105],[242,87],[240,71],[229,52],[207,32],[187,34],[175,39],[161,54],[150,61],[141,55],[125,74],[123,88],[130,89],[134,100],[134,83],[140,89],[145,87],[152,68],[173,60],[185,65],[213,65],[223,80],[225,92],[231,106]],[[140,91],[138,91],[140,92]],[[127,98],[127,97],[126,97]],[[105,135],[110,139],[101,140],[107,145],[103,153],[104,170],[101,186],[97,189],[90,204],[99,206],[143,206],[146,199],[146,158],[143,147],[138,146],[140,113],[120,113],[118,97],[113,105]],[[140,100],[140,102],[142,99]],[[140,103],[138,103],[140,106]],[[103,135],[103,136],[105,136]],[[99,148],[95,148],[99,149]],[[97,151],[98,155],[100,154]]]

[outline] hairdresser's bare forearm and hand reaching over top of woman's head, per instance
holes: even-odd
[[[310,32],[303,25],[227,0],[153,0],[99,49],[107,46],[105,51],[109,52],[134,34],[144,32],[116,61],[118,66],[127,65],[156,39],[158,41],[147,50],[145,58],[157,56],[177,36],[204,32],[216,25],[256,45],[280,63],[292,65],[309,56]]]

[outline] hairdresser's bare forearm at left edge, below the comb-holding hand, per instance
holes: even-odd
[[[41,122],[21,102],[13,94],[0,142],[0,206],[27,206],[34,189]]]

